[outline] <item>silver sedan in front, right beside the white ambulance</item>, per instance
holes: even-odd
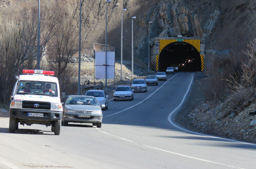
[[[70,95],[63,103],[62,123],[92,123],[101,127],[102,111],[97,99],[93,96]]]

